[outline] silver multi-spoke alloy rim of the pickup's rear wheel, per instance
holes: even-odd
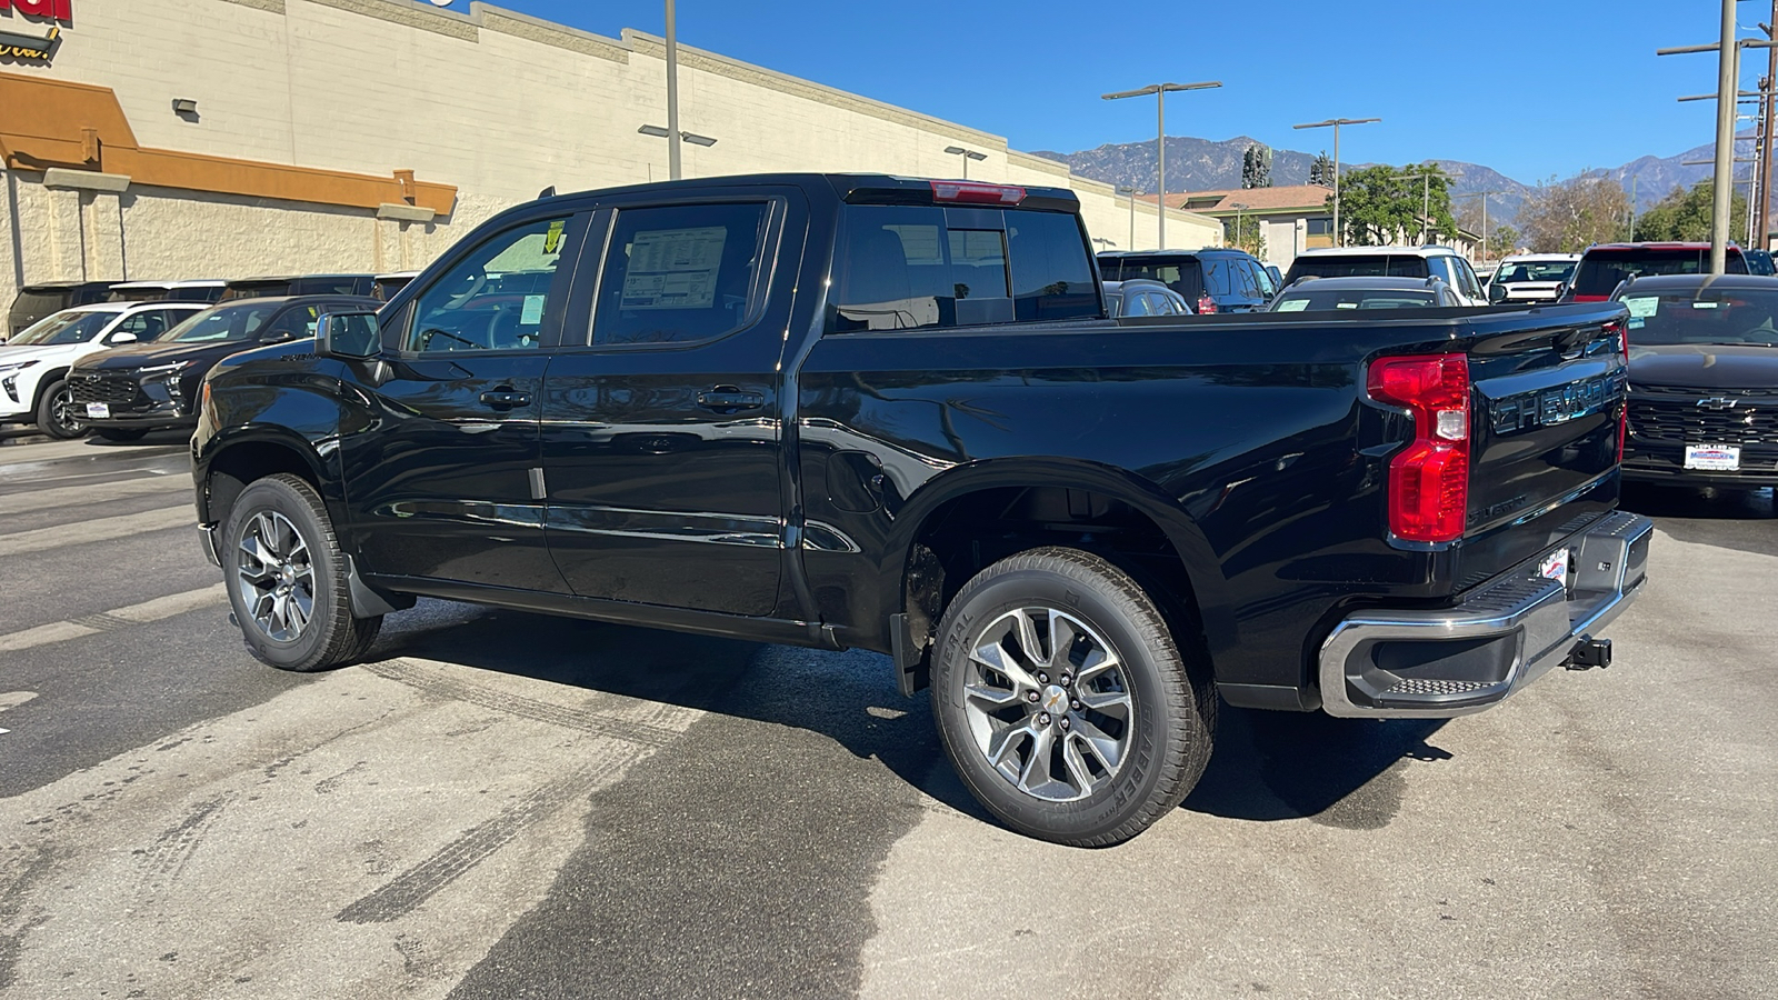
[[[1117,651],[1072,614],[1013,609],[971,642],[969,731],[1026,795],[1065,802],[1102,788],[1129,756],[1134,710]]]

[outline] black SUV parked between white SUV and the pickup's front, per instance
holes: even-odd
[[[357,295],[222,302],[153,343],[80,359],[68,372],[68,388],[85,422],[114,441],[167,427],[192,427],[197,422],[197,388],[217,361],[249,347],[315,336],[315,320],[324,311],[379,304]]]

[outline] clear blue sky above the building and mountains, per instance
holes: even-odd
[[[665,23],[661,0],[500,5],[606,36]],[[1106,16],[1083,16],[1093,9]],[[1741,4],[1742,37],[1769,12]],[[1170,135],[1314,151],[1332,137],[1293,123],[1382,117],[1341,132],[1342,160],[1467,160],[1526,183],[1670,157],[1709,142],[1716,121],[1712,101],[1675,101],[1716,89],[1716,55],[1654,53],[1716,41],[1719,7],[1705,0],[679,0],[677,16],[685,44],[1005,135],[1015,149],[1154,139],[1152,98],[1099,94],[1156,80],[1223,82],[1170,96]],[[1764,50],[1746,62],[1751,89]]]

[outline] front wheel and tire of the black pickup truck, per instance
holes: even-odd
[[[263,518],[261,518],[263,516]],[[300,537],[302,548],[281,541],[288,525]],[[276,560],[251,560],[244,543],[272,528],[268,552],[288,550],[283,564],[290,575],[265,573]],[[345,555],[340,539],[327,520],[327,507],[315,488],[300,477],[279,473],[256,479],[235,500],[222,532],[222,575],[228,584],[229,605],[240,623],[247,651],[281,671],[325,671],[361,658],[377,639],[382,617],[352,617],[352,600],[345,575]],[[297,555],[293,555],[297,553]],[[302,557],[300,553],[306,553]],[[277,607],[276,593],[261,593],[249,577],[286,580],[295,589],[290,600],[309,598],[308,619],[292,630],[288,616],[268,609]],[[249,601],[249,589],[258,600]],[[270,585],[276,591],[276,584]],[[267,601],[272,601],[267,605]],[[268,619],[270,623],[263,623]],[[283,628],[279,628],[283,625]]]

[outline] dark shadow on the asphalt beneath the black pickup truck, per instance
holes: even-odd
[[[514,635],[525,641],[516,644]],[[951,774],[926,694],[903,699],[887,658],[875,653],[825,653],[505,610],[439,628],[402,628],[375,655],[427,657],[827,737],[857,760],[880,762],[909,790],[992,822]],[[1442,726],[1225,705],[1216,751],[1182,808],[1236,820],[1307,817],[1326,826],[1382,827],[1399,808],[1401,770],[1410,762],[1451,758],[1428,742]],[[770,747],[757,749],[759,767],[770,769]]]

